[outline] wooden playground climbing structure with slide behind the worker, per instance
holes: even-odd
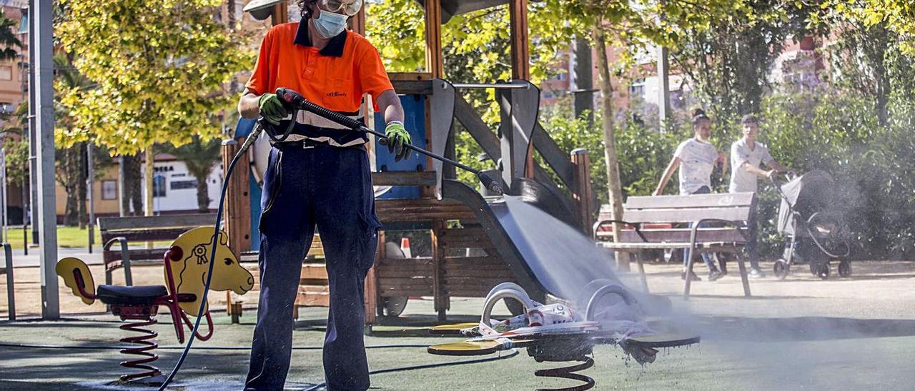
[[[549,193],[561,200],[554,203],[558,205],[550,206],[556,212],[554,216],[573,227],[580,227],[590,236],[595,203],[588,177],[587,151],[562,151],[537,122],[540,90],[528,81],[527,0],[421,3],[425,8],[426,70],[389,74],[394,89],[404,102],[407,129],[411,131],[414,143],[433,153],[454,158],[457,120],[487,153],[493,166],[499,167],[498,174],[494,176],[501,176],[503,188],[522,196]],[[506,3],[511,14],[512,79],[496,84],[447,81],[441,48],[443,12],[450,17]],[[362,34],[365,31],[364,12],[364,9],[361,10],[350,20],[351,28]],[[274,5],[274,25],[285,23],[287,14],[285,2]],[[501,107],[498,134],[491,132],[479,112],[463,97],[460,91],[468,89],[496,90],[496,99]],[[237,131],[237,143],[223,143],[224,165],[229,164],[246,135]],[[540,154],[545,167],[534,161],[534,152]],[[485,297],[500,282],[523,280],[512,271],[507,263],[509,260],[500,252],[499,244],[494,243],[490,233],[480,227],[475,211],[460,196],[464,190],[448,191],[448,188],[457,188],[453,167],[425,157],[414,157],[415,161],[406,164],[393,164],[393,159],[382,161],[382,155],[386,153],[378,155],[376,163],[379,172],[372,173],[373,185],[406,190],[376,198],[376,213],[384,227],[379,235],[379,252],[374,268],[366,279],[366,323],[369,327],[378,321],[378,316],[399,313],[385,308],[385,303],[389,301],[431,296],[438,318],[445,320],[450,297]],[[559,183],[554,181],[554,177],[559,179]],[[254,261],[247,263],[247,268],[256,270],[257,195],[260,190],[250,170],[239,170],[227,181],[231,195],[227,200],[225,220],[229,244],[242,262]],[[428,230],[431,257],[400,259],[388,254],[384,246],[385,230],[396,227]],[[327,273],[321,261],[323,252],[319,243],[316,234],[315,245],[303,263],[296,305],[328,305]],[[239,316],[242,306],[237,300],[233,302],[229,298],[228,301],[228,314],[233,318]]]

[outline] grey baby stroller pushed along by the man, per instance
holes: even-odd
[[[783,280],[791,265],[807,263],[810,272],[823,280],[829,278],[830,261],[839,260],[839,276],[852,274],[848,262],[850,248],[842,212],[836,208],[832,176],[812,171],[801,176],[785,174],[787,182],[772,183],[781,195],[779,232],[788,239],[782,258],[772,271]]]

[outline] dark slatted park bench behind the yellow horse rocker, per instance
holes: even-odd
[[[147,242],[167,241],[178,238],[196,227],[212,227],[216,215],[169,215],[147,217],[99,217],[99,231],[102,234],[102,259],[105,264],[105,284],[111,285],[112,272],[124,268],[124,282],[134,285],[130,268],[132,266],[161,265],[167,247],[146,248]],[[133,244],[133,248],[131,248]],[[120,245],[113,249],[114,245]],[[142,248],[141,248],[142,247]]]

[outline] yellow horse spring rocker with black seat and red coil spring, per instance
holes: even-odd
[[[122,321],[134,321],[124,323],[121,326],[122,330],[141,334],[121,339],[121,343],[137,345],[122,349],[122,354],[143,356],[136,360],[121,362],[124,367],[143,371],[122,375],[121,382],[154,385],[165,381],[165,376],[158,368],[149,365],[158,358],[152,353],[158,347],[155,341],[158,334],[144,327],[156,324],[158,308],[164,305],[171,313],[175,333],[178,334],[178,343],[184,343],[184,327],[187,325],[188,329],[193,329],[193,323],[188,315],[197,315],[200,299],[203,297],[204,281],[207,280],[207,271],[210,268],[208,258],[212,234],[212,227],[197,227],[175,239],[164,255],[165,286],[100,285],[96,288],[85,262],[76,258],[59,260],[57,274],[74,295],[86,304],[92,304],[95,299],[108,304],[113,315],[119,316]],[[251,273],[239,265],[238,259],[226,246],[225,232],[220,231],[219,235],[210,290],[231,290],[238,294],[251,291],[254,284]],[[213,334],[209,308],[205,308],[205,313],[208,331],[206,335],[197,335],[197,338],[203,341],[210,339]]]

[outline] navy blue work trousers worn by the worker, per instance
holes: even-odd
[[[365,390],[363,283],[381,224],[362,148],[278,144],[261,198],[261,296],[246,390],[282,390],[292,347],[293,305],[302,260],[318,227],[330,288],[324,339],[328,390]]]

